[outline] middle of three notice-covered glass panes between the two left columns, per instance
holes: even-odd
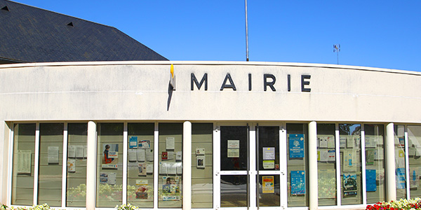
[[[154,207],[154,123],[128,123],[127,202]]]

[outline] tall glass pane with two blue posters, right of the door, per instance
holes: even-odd
[[[307,207],[309,205],[307,124],[286,124],[286,135],[288,207]]]

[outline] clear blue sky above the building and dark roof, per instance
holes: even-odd
[[[16,0],[116,27],[170,60],[245,61],[243,0]],[[248,0],[250,61],[421,71],[421,1]]]

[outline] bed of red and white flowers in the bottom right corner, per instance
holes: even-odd
[[[421,198],[417,197],[415,199],[404,200],[401,199],[399,201],[392,201],[392,202],[377,202],[373,205],[368,205],[366,210],[377,210],[377,209],[390,209],[390,210],[400,210],[400,209],[407,209],[407,210],[415,210],[421,209]]]

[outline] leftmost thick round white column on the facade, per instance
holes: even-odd
[[[86,160],[86,210],[95,209],[95,187],[96,187],[96,146],[97,132],[96,123],[88,122],[88,152]]]

